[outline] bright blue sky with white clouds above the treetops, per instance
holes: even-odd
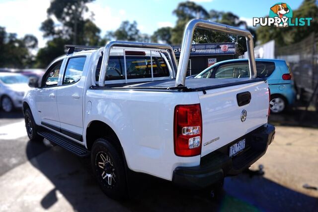
[[[94,22],[102,29],[102,35],[115,30],[121,21],[136,20],[143,33],[152,34],[162,26],[173,26],[176,21],[172,11],[183,0],[95,0],[88,4],[94,12]],[[251,24],[252,17],[268,15],[270,7],[277,0],[193,0],[206,10],[231,11]],[[302,0],[284,1],[296,9]],[[46,9],[50,0],[0,0],[0,26],[8,32],[16,32],[18,37],[34,34],[39,39],[39,47],[45,45],[39,30],[46,19]],[[85,14],[89,17],[90,13]]]

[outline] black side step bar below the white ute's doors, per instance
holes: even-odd
[[[58,133],[41,127],[38,130],[38,134],[48,139],[49,141],[52,141],[57,145],[65,148],[66,150],[69,150],[70,152],[78,155],[79,157],[89,156],[90,152],[84,146],[70,140],[69,138],[59,135]]]

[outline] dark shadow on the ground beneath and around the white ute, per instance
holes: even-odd
[[[31,147],[27,145],[27,148]],[[30,150],[26,150],[31,152]],[[106,197],[92,176],[89,159],[55,146],[30,159],[55,186],[41,199],[43,209],[58,204],[57,191],[74,211],[315,211],[318,199],[278,185],[263,176],[244,173],[225,180],[216,198],[143,174],[133,174],[130,199]],[[266,170],[265,170],[266,171]]]

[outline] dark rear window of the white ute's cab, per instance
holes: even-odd
[[[98,81],[102,57],[99,58],[96,68]],[[106,71],[106,80],[124,80],[124,57],[110,56]],[[151,78],[151,59],[148,56],[126,56],[127,79]],[[153,57],[153,73],[155,77],[169,77],[170,73],[162,57]]]

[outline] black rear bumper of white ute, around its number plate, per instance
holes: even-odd
[[[201,158],[200,165],[177,167],[173,171],[172,181],[183,187],[203,189],[220,182],[226,176],[237,175],[262,157],[268,145],[273,141],[275,127],[267,124],[230,144]],[[229,148],[240,139],[246,139],[245,149],[230,157]]]

